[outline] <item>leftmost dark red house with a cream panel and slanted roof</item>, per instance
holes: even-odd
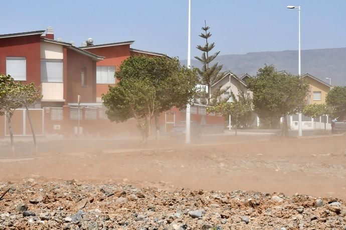
[[[0,73],[41,87],[37,107],[96,102],[96,62],[102,56],[54,40],[53,28],[0,35]]]

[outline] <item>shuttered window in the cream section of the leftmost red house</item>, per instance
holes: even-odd
[[[63,82],[63,60],[41,60],[41,82]]]

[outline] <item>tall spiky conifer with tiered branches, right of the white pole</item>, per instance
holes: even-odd
[[[204,21],[204,23],[205,23],[205,26],[202,27],[202,30],[204,30],[204,32],[202,32],[199,36],[206,39],[206,44],[204,46],[197,45],[197,48],[201,50],[203,53],[201,57],[195,56],[195,58],[202,62],[202,68],[201,69],[197,68],[197,71],[200,75],[201,83],[208,85],[209,94],[207,95],[207,101],[209,104],[210,98],[212,97],[211,86],[215,82],[220,80],[225,75],[225,73],[220,72],[222,69],[222,65],[218,65],[218,63],[215,63],[212,66],[209,66],[210,62],[212,62],[215,59],[215,57],[217,57],[220,51],[217,51],[216,53],[212,55],[209,54],[209,52],[215,47],[215,42],[209,44],[208,38],[210,38],[212,34],[208,31],[210,27],[207,26],[207,22]]]

